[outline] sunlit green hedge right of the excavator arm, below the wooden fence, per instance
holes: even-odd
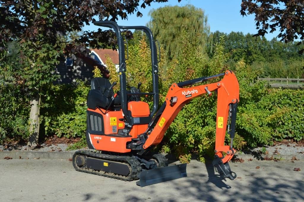
[[[237,133],[249,146],[304,138],[304,124],[299,121],[304,117],[302,90],[268,89],[265,82],[250,83],[259,72],[246,70],[244,61],[238,63],[236,73],[240,84]]]

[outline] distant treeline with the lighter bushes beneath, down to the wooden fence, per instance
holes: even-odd
[[[214,55],[214,45],[220,37],[225,36],[224,52],[227,55],[227,63],[234,70],[237,61],[244,59],[250,64],[252,70],[261,70],[259,76],[272,78],[304,78],[303,54],[299,50],[304,44],[296,42],[283,43],[275,38],[268,41],[265,37],[253,37],[251,34],[244,35],[242,32],[225,34],[219,31],[209,36],[211,43],[207,50],[209,57]]]

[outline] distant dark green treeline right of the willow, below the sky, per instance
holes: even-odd
[[[304,44],[297,45],[297,42],[289,42],[287,44],[276,40],[267,40],[265,37],[254,37],[251,34],[242,32],[223,33],[216,31],[209,35],[207,50],[209,57],[213,57],[214,45],[219,42],[220,36],[225,36],[225,52],[232,53],[230,61],[237,62],[242,58],[247,64],[254,62],[268,62],[276,60],[283,61],[299,61],[303,55],[299,54],[299,50],[304,48]],[[288,66],[287,66],[288,67]]]

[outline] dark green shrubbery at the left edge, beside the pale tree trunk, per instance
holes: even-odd
[[[8,55],[1,56],[4,58]],[[29,97],[26,87],[14,77],[15,72],[12,71],[17,68],[18,60],[11,65],[0,62],[0,143],[6,138],[26,139],[29,136]]]

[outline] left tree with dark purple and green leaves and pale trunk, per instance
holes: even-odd
[[[180,0],[179,0],[180,1]],[[25,79],[25,85],[31,94],[31,133],[32,143],[36,144],[39,131],[39,95],[43,88],[52,83],[57,75],[52,71],[59,58],[70,54],[74,59],[86,55],[86,47],[101,48],[107,44],[115,48],[115,34],[111,31],[84,32],[83,36],[69,41],[61,41],[64,36],[99,19],[127,19],[127,15],[137,12],[154,0],[34,0],[0,1],[0,51],[7,50],[7,43],[17,40],[22,54],[22,71],[19,79]],[[156,0],[155,2],[167,2]],[[110,40],[108,40],[110,37]]]

